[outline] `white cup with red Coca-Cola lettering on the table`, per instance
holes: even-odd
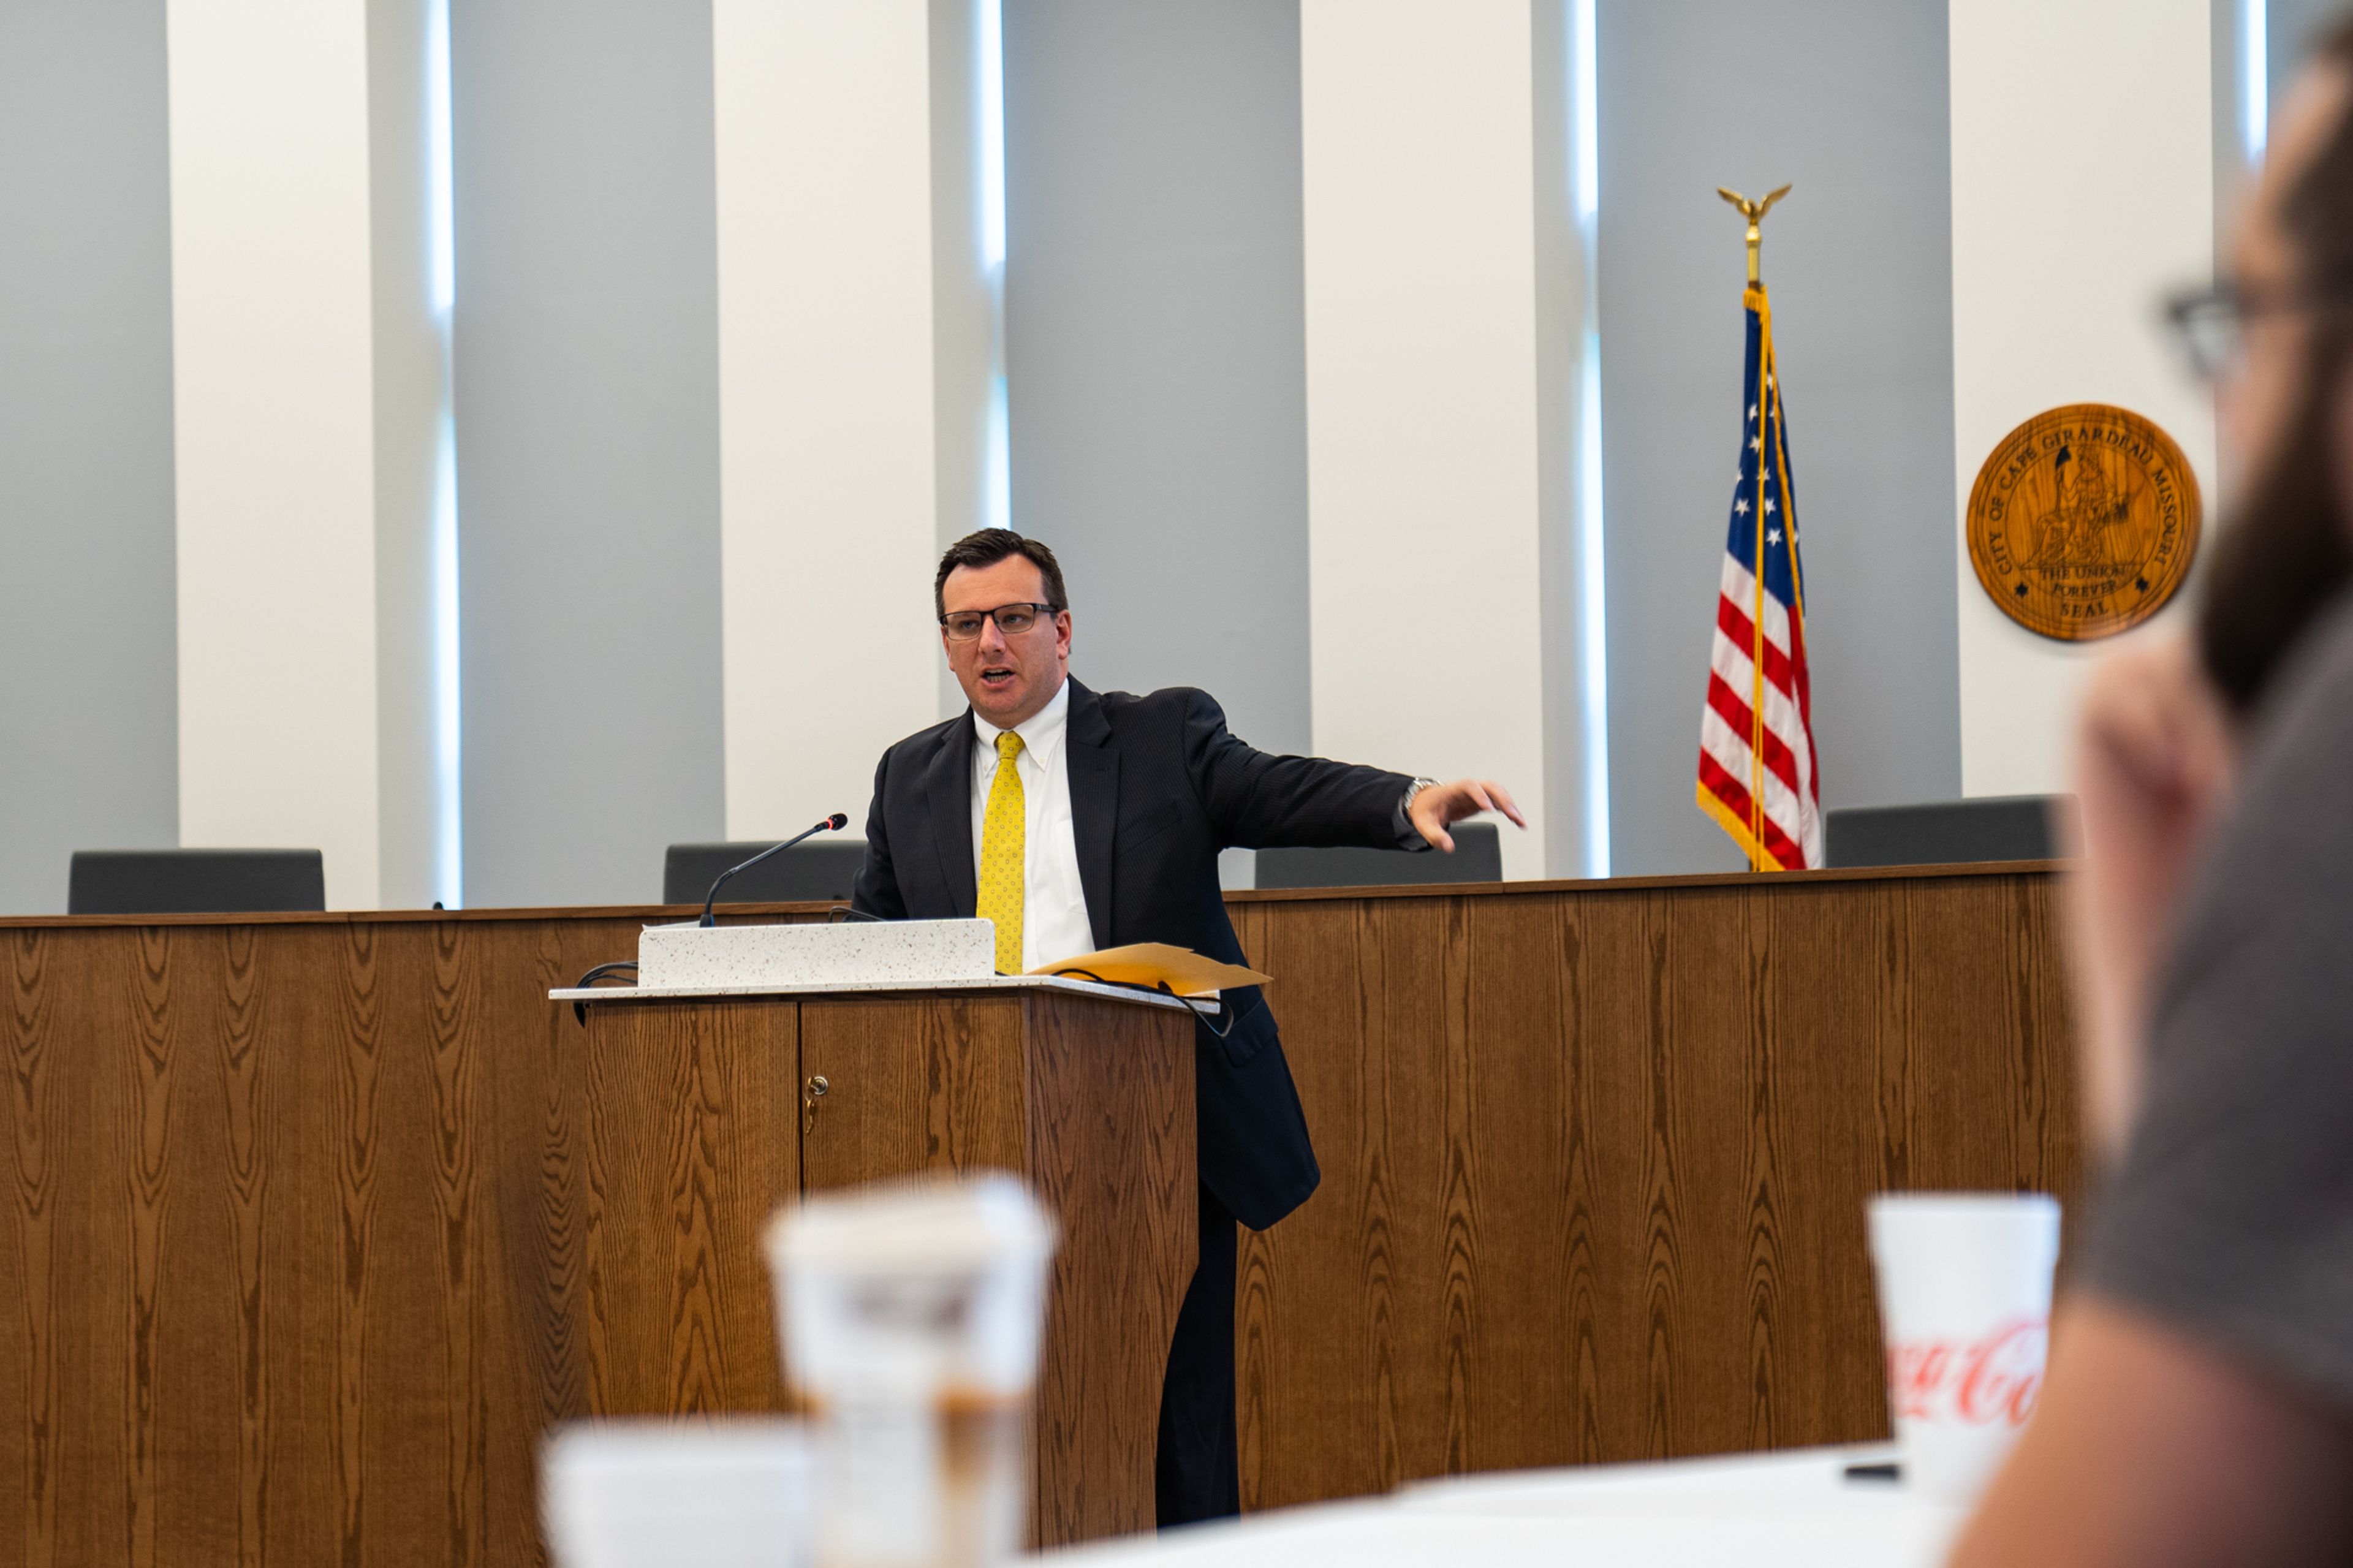
[[[1871,1262],[1904,1481],[1972,1502],[2042,1394],[2059,1201],[1880,1194]]]

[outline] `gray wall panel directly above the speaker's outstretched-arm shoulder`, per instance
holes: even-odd
[[[1297,0],[1005,0],[1012,520],[1071,669],[1308,744]]]

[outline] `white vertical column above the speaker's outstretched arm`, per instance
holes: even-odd
[[[1560,61],[1527,0],[1301,0],[1299,28],[1315,751],[1539,808],[1534,94]],[[1529,824],[1506,876],[1565,826]]]

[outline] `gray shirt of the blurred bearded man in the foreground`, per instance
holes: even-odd
[[[2275,680],[2082,1276],[2353,1413],[2353,600]]]

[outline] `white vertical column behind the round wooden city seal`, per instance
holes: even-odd
[[[2158,304],[2214,264],[2212,0],[1953,0],[1953,457],[1960,784],[2066,786],[2082,673],[1977,584],[1969,487],[2019,421],[2118,403],[2172,433],[2214,518],[2214,410]],[[2184,600],[2125,636],[2179,622]]]

